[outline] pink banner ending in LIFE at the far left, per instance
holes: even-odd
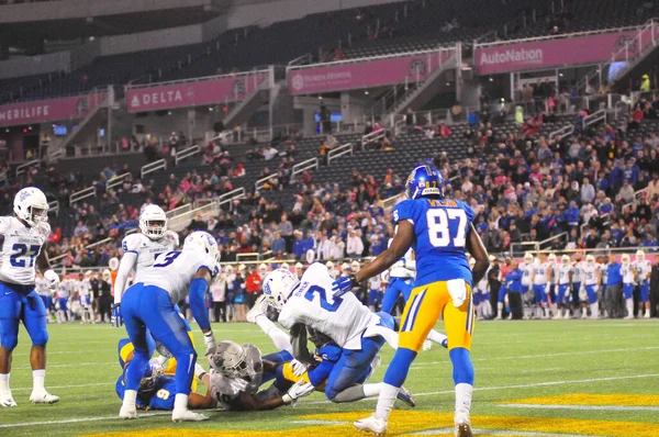
[[[104,93],[12,103],[0,107],[0,126],[83,119],[105,99]]]

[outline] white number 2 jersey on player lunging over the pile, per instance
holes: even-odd
[[[279,323],[287,329],[302,323],[325,334],[339,347],[355,350],[361,349],[364,329],[380,323],[380,317],[353,293],[335,299],[327,268],[314,262],[283,305]]]

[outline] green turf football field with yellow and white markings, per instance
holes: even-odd
[[[266,354],[273,351],[256,326],[213,329],[219,340],[254,343]],[[29,403],[29,340],[22,332],[11,373],[19,406],[0,410],[0,436],[350,436],[359,435],[351,421],[375,407],[371,400],[335,405],[315,393],[297,407],[272,412],[211,412],[211,421],[201,424],[174,424],[168,413],[153,412],[120,422],[116,341],[125,330],[71,324],[52,325],[49,333],[46,386],[62,401],[53,406]],[[201,335],[196,335],[199,346]],[[384,346],[382,367],[371,381],[381,381],[391,356]],[[472,358],[477,435],[659,436],[657,322],[481,322]],[[396,403],[401,410],[392,415],[390,435],[451,435],[454,395],[446,349],[435,346],[421,352],[405,385],[415,393],[417,407]]]

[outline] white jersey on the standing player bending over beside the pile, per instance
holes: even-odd
[[[152,267],[144,269],[138,282],[167,290],[171,302],[177,303],[188,296],[190,282],[202,267],[213,277],[220,270],[215,259],[205,253],[172,250],[160,255]]]

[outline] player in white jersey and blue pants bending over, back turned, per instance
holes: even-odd
[[[120,418],[137,417],[139,380],[153,355],[147,343],[148,329],[177,360],[176,399],[171,419],[208,419],[206,416],[188,410],[188,394],[197,352],[187,335],[186,323],[175,310],[175,303],[189,295],[192,315],[204,336],[205,352],[214,354],[217,344],[211,330],[205,293],[220,270],[219,258],[215,239],[205,232],[193,232],[186,238],[182,250],[160,255],[154,265],[142,273],[138,282],[125,291],[122,299],[122,316],[129,337],[135,346],[135,357],[126,373],[126,391],[119,413]]]

